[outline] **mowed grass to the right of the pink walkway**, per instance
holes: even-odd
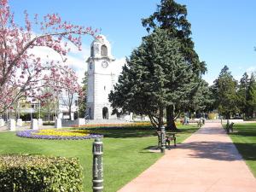
[[[230,137],[256,177],[256,124],[235,124]]]

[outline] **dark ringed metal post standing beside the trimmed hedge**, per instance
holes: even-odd
[[[103,143],[100,138],[96,138],[92,144],[93,166],[92,166],[92,189],[93,192],[103,191]]]

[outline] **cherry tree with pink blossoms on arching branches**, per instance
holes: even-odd
[[[38,15],[30,20],[25,12],[25,26],[15,24],[8,0],[0,0],[0,113],[10,108],[21,97],[31,96],[44,100],[53,93],[44,93],[42,87],[80,91],[78,78],[73,70],[63,65],[70,51],[70,44],[81,49],[81,36],[96,37],[90,27],[76,26],[62,21],[57,14]],[[39,32],[33,32],[33,29]],[[39,34],[38,34],[39,33]],[[60,55],[61,61],[43,61],[32,49],[47,47]]]

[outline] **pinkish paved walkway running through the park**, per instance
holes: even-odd
[[[219,123],[207,123],[119,192],[256,192],[256,178]]]

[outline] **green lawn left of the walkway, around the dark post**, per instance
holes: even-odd
[[[191,125],[179,127],[177,143],[189,137],[197,128]],[[150,153],[147,148],[157,145],[154,130],[108,130],[102,132],[104,148],[104,191],[113,192],[143,172],[162,154]],[[46,154],[77,157],[84,167],[84,190],[91,191],[91,165],[93,140],[61,141],[35,140],[16,137],[14,132],[0,133],[0,154]],[[178,145],[177,145],[178,146]]]

